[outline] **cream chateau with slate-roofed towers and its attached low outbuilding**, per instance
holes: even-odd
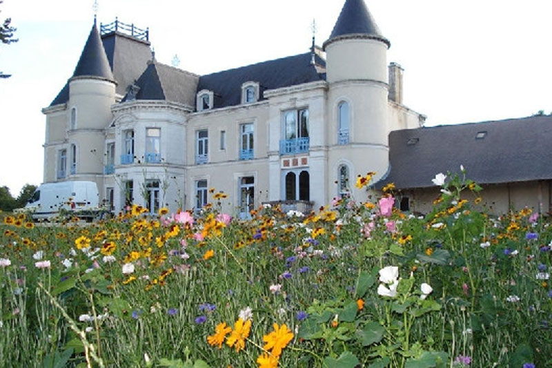
[[[224,211],[244,217],[267,202],[305,212],[339,195],[364,200],[355,179],[373,171],[376,183],[395,182],[403,209],[424,211],[435,174],[463,164],[489,184],[497,211],[548,211],[552,169],[531,166],[544,147],[522,124],[550,131],[552,119],[423,128],[424,115],[402,104],[390,45],[364,0],[346,0],[322,48],[313,41],[301,55],[196,75],[157,62],[147,30],[95,22],[75,72],[43,109],[43,181],[94,181],[116,212],[130,203],[201,209],[215,188],[228,195]],[[522,157],[511,146],[520,138],[529,139]]]

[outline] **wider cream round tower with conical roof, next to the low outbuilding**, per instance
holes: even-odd
[[[329,85],[327,110],[331,114],[328,187],[337,183],[330,197],[347,191],[355,194],[355,178],[359,174],[374,171],[377,181],[388,170],[390,45],[364,0],[346,0],[330,38],[323,45]],[[348,179],[344,179],[346,176]],[[361,193],[357,194],[355,197],[360,197]]]

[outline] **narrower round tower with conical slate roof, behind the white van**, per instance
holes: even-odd
[[[90,30],[79,63],[69,79],[67,160],[70,180],[103,185],[104,129],[112,120],[116,82],[96,28]]]

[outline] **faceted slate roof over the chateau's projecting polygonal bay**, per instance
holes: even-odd
[[[159,99],[195,106],[198,80],[198,75],[154,61],[136,81],[140,88],[136,99]],[[123,101],[128,101],[128,94]]]

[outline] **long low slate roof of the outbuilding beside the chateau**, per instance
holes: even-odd
[[[459,173],[460,165],[480,184],[552,179],[551,142],[546,115],[397,130],[389,135],[391,171],[377,186],[433,186],[437,173]]]

